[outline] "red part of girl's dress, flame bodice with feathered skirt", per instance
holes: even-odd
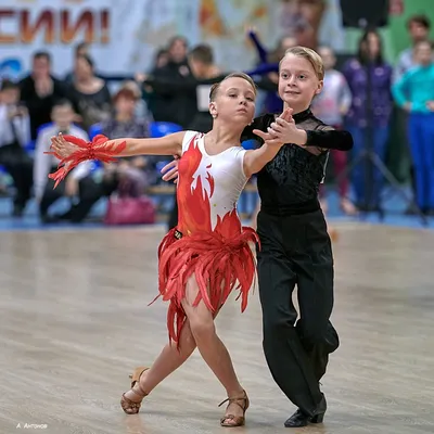
[[[182,238],[177,240],[175,230],[171,230],[158,247],[158,296],[169,302],[168,334],[169,340],[178,345],[186,321],[181,302],[191,276],[194,275],[199,286],[194,305],[203,301],[216,314],[231,291],[239,289],[238,298],[241,297],[241,310],[244,311],[256,276],[256,261],[250,243],[259,244],[256,232],[242,227],[235,207],[224,216],[217,216],[213,228],[210,200],[215,180],[208,171],[204,179],[197,175],[203,158],[199,138],[201,135],[192,138],[179,163],[178,230]]]

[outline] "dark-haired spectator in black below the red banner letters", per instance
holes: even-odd
[[[49,53],[34,54],[31,73],[20,82],[20,88],[30,116],[30,137],[36,140],[38,128],[51,122],[54,101],[65,97],[64,85],[51,74]]]

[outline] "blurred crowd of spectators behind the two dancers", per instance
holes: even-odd
[[[330,47],[316,47],[324,62],[326,78],[323,91],[311,107],[324,123],[350,130],[355,140],[352,159],[366,149],[367,131],[371,130],[370,145],[385,162],[386,146],[393,146],[390,138],[395,119],[399,135],[410,137],[410,179],[417,203],[425,213],[434,210],[434,192],[431,193],[425,186],[426,182],[434,186],[434,178],[430,181],[424,178],[426,174],[421,175],[421,165],[425,167],[429,163],[423,158],[423,152],[419,148],[414,150],[412,143],[429,142],[434,138],[434,123],[427,120],[431,117],[423,116],[434,111],[434,81],[430,81],[430,77],[434,80],[434,75],[412,76],[411,72],[418,65],[426,71],[432,65],[430,27],[430,21],[423,15],[408,21],[411,43],[394,65],[384,60],[381,36],[374,30],[361,36],[357,52],[339,68],[336,55]],[[301,41],[296,36],[285,36],[277,47],[268,49],[255,29],[250,29],[246,37],[257,50],[256,64],[246,71],[260,90],[257,113],[279,113],[282,110],[277,94],[279,60],[288,48]],[[159,182],[162,162],[168,159],[123,158],[111,165],[86,162],[53,190],[48,174],[56,169],[58,162],[46,152],[49,151],[50,138],[59,132],[89,140],[98,133],[115,139],[158,137],[180,129],[210,129],[209,88],[230,71],[222,71],[216,64],[208,44],[190,48],[184,37],[176,36],[156,53],[150,71],[135,76],[131,72],[131,77],[117,84],[115,90],[104,78],[104,65],[94,65],[91,51],[91,46],[78,44],[73,71],[65,77],[53,75],[49,52],[36,52],[27,76],[17,82],[3,79],[0,85],[0,166],[13,181],[15,217],[22,216],[29,200],[35,197],[42,222],[84,221],[100,199],[111,197],[119,186],[126,186],[126,180],[130,196],[148,194],[149,189]],[[422,111],[418,110],[418,101],[412,101],[418,97],[409,91],[414,82],[423,82],[425,99],[432,100],[432,106],[424,104]],[[413,112],[419,117],[413,116]],[[434,176],[434,155],[430,164],[424,170],[427,170],[426,176],[431,173]],[[367,186],[363,165],[356,165],[350,174],[346,174],[347,166],[345,153],[332,153],[331,167],[342,210],[355,214],[359,209],[380,208],[384,186],[381,173],[373,167],[372,180]],[[370,190],[368,199],[367,187]],[[50,212],[54,202],[65,196],[69,199],[71,207],[63,214]],[[324,191],[324,208],[326,200]],[[414,209],[410,207],[408,213],[412,212]]]

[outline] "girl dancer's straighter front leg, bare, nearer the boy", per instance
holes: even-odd
[[[213,312],[208,310],[202,301],[197,306],[193,306],[197,292],[199,286],[193,275],[187,282],[186,298],[182,302],[182,307],[189,319],[190,330],[197,349],[226,388],[228,397],[243,397],[244,391],[238,381],[232,360],[225,344],[217,336]],[[227,408],[226,414],[243,416],[243,409],[238,404],[231,403]],[[227,419],[226,422],[231,423],[231,420]],[[235,423],[233,422],[233,424]]]

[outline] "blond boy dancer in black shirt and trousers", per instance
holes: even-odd
[[[279,94],[293,110],[296,133],[275,115],[256,118],[242,140],[265,131],[266,142],[290,143],[257,175],[261,208],[257,218],[259,295],[264,352],[272,376],[298,410],[285,426],[321,422],[327,404],[319,387],[329,354],[339,347],[329,318],[333,307],[333,255],[318,200],[329,151],[348,151],[352,136],[334,130],[310,112],[322,89],[321,58],[304,47],[289,49],[280,62]],[[182,158],[181,158],[182,161]],[[180,163],[181,164],[181,163]],[[175,166],[176,162],[171,164]],[[169,170],[165,180],[176,177]],[[292,303],[298,288],[299,320]]]

